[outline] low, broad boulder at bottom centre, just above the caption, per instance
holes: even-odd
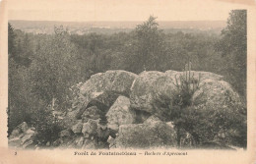
[[[152,116],[143,124],[128,124],[119,127],[117,148],[173,147],[175,131],[160,119]]]

